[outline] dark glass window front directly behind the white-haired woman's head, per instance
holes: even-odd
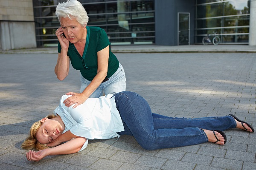
[[[56,45],[60,26],[54,11],[65,0],[33,0],[38,46]],[[88,26],[105,29],[112,44],[154,43],[154,0],[79,0]]]

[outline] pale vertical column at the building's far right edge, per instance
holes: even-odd
[[[250,34],[249,45],[256,45],[256,0],[250,0]]]

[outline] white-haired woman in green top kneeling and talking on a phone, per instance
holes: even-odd
[[[58,60],[55,74],[59,80],[67,77],[70,61],[81,73],[80,93],[65,100],[66,106],[76,108],[88,97],[102,96],[125,91],[125,72],[111,52],[110,42],[104,29],[87,26],[88,16],[77,0],[58,3],[55,11],[61,24],[55,32],[58,37]]]

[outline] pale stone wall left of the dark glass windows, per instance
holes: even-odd
[[[32,0],[0,0],[0,50],[34,47]]]

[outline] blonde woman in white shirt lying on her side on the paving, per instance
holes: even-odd
[[[182,147],[204,142],[225,144],[221,130],[239,128],[253,132],[253,127],[236,116],[206,118],[172,118],[151,113],[146,100],[130,91],[89,98],[76,108],[63,103],[62,96],[54,114],[35,122],[23,142],[29,150],[29,161],[48,155],[76,153],[83,150],[88,139],[111,139],[132,135],[147,150]],[[64,143],[63,143],[64,142]]]

